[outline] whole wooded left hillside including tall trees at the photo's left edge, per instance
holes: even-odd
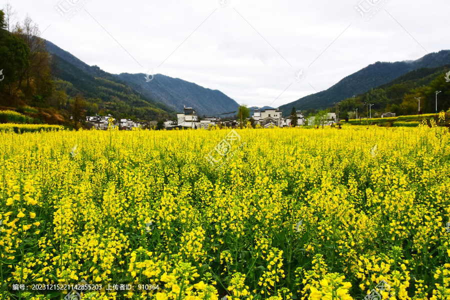
[[[85,115],[95,113],[143,120],[175,115],[175,111],[142,96],[117,76],[95,66],[89,67],[94,70],[92,75],[56,54],[49,55],[46,42],[39,35],[38,25],[29,16],[21,23],[7,24],[0,10],[0,61],[4,75],[0,82],[0,110],[9,110],[0,115],[0,122],[14,120],[77,128],[82,126]],[[13,112],[22,116],[14,118]]]

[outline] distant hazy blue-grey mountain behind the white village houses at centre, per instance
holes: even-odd
[[[118,77],[143,95],[177,111],[186,106],[194,108],[198,115],[217,116],[239,107],[236,101],[217,89],[204,88],[179,78],[155,74],[151,81],[146,82],[142,73],[121,73]]]

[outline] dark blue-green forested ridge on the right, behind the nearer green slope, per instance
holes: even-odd
[[[345,98],[363,93],[371,88],[388,83],[409,71],[419,68],[437,67],[450,63],[450,50],[441,50],[426,54],[417,60],[397,62],[375,62],[359,71],[348,75],[330,88],[299,98],[293,102],[281,105],[283,115],[290,113],[294,106],[296,109],[310,107],[324,108],[332,106],[333,102],[339,102]]]

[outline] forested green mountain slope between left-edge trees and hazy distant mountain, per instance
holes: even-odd
[[[49,41],[45,41],[45,46],[54,61],[52,73],[56,89],[63,90],[70,97],[81,94],[87,102],[87,114],[111,113],[117,118],[147,120],[176,115],[176,111],[141,95],[116,75],[87,65]],[[68,105],[62,102],[59,108],[68,110]]]

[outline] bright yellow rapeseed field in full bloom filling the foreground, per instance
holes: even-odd
[[[450,299],[447,128],[231,133],[0,132],[1,299]]]

